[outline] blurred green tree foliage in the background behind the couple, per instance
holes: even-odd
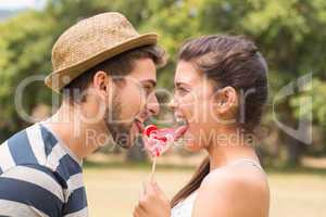
[[[161,36],[160,44],[171,56],[170,64],[159,74],[161,87],[173,87],[176,53],[186,39],[208,34],[252,38],[269,65],[268,107],[284,86],[313,73],[311,91],[296,92],[277,107],[280,118],[296,126],[300,118],[298,100],[312,95],[313,124],[325,132],[325,0],[53,0],[43,11],[28,11],[0,24],[0,139],[25,124],[13,101],[18,82],[51,71],[51,47],[64,29],[80,18],[105,11],[120,11],[140,31],[156,31]],[[24,99],[28,112],[38,103],[51,101],[50,91],[41,82],[28,87]],[[274,126],[272,112],[268,111],[265,123],[279,130]],[[289,144],[283,137],[277,143]]]

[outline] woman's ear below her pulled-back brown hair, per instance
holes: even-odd
[[[214,94],[215,110],[218,114],[235,114],[238,107],[238,93],[233,87],[225,87]],[[229,115],[227,115],[229,116]]]

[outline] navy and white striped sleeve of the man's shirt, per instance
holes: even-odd
[[[60,217],[63,188],[42,166],[16,166],[0,176],[0,216]]]

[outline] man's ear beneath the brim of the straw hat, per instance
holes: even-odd
[[[92,78],[92,88],[101,97],[108,98],[110,92],[110,87],[112,88],[112,78],[103,71],[98,71]]]

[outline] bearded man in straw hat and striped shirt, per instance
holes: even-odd
[[[164,52],[118,13],[80,21],[58,39],[46,85],[62,104],[0,145],[0,216],[88,216],[82,161],[108,143],[129,148],[159,112]]]

